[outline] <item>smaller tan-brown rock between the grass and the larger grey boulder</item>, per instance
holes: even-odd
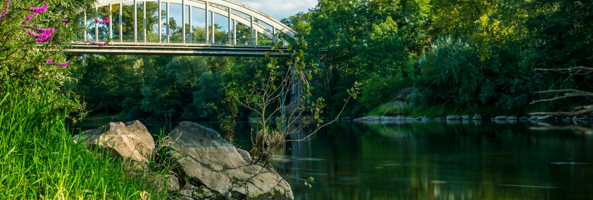
[[[75,136],[75,143],[84,143],[91,149],[101,148],[111,157],[148,162],[154,150],[154,140],[138,120],[109,122],[106,126],[84,131]]]

